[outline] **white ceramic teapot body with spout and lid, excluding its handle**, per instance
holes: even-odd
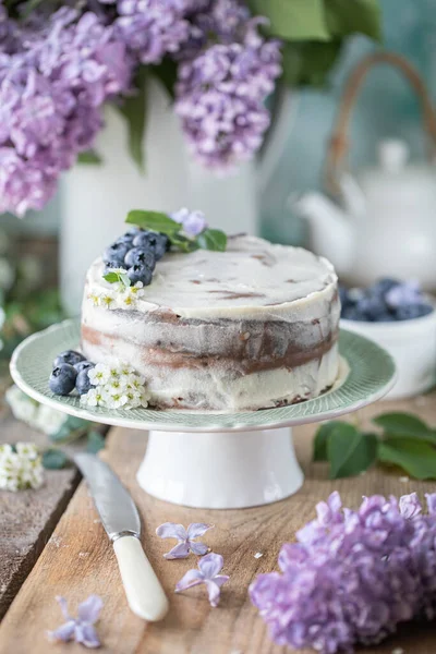
[[[338,183],[342,206],[320,193],[294,203],[311,225],[312,247],[339,277],[370,284],[379,277],[436,288],[436,170],[408,165],[402,141],[379,145],[379,164]]]

